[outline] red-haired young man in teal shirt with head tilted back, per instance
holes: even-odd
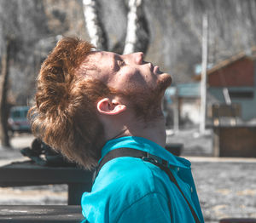
[[[164,148],[161,99],[171,83],[143,53],[93,51],[76,38],[44,61],[33,133],[86,169],[109,160],[82,197],[89,222],[203,222],[189,161]]]

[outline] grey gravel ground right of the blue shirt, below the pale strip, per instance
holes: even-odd
[[[256,163],[192,162],[192,168],[207,222],[256,218]]]

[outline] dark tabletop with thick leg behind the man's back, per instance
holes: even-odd
[[[90,192],[92,173],[73,167],[45,167],[32,161],[0,167],[0,186],[68,185],[68,205],[80,204],[83,192]]]

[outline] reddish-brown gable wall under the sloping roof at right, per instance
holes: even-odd
[[[248,58],[236,60],[208,75],[210,87],[253,87],[254,61]]]

